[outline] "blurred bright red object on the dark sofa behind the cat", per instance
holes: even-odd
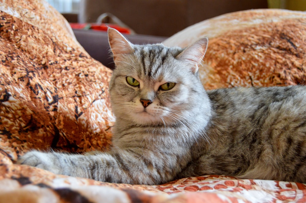
[[[129,28],[120,27],[116,24],[94,24],[94,23],[70,23],[72,29],[80,29],[80,30],[99,30],[99,31],[107,31],[108,27],[114,28],[121,33],[131,34]]]

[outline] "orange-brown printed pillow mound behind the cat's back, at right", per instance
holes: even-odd
[[[240,11],[192,25],[163,44],[185,47],[209,38],[200,67],[206,89],[305,84],[305,21],[300,11]]]

